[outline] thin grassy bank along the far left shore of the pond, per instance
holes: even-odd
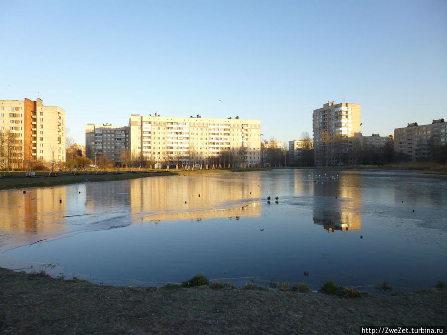
[[[189,170],[189,171],[94,171],[88,172],[58,172],[56,175],[48,176],[49,172],[36,172],[34,177],[25,177],[25,172],[2,173],[0,178],[0,190],[20,189],[26,187],[44,187],[54,185],[65,185],[89,182],[101,182],[109,180],[124,180],[134,178],[192,175],[202,173],[224,173],[224,172],[245,172],[261,171],[266,169],[215,169],[215,170]]]

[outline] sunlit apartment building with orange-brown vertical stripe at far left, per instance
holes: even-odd
[[[0,135],[3,167],[65,161],[65,110],[44,106],[41,99],[0,100]]]

